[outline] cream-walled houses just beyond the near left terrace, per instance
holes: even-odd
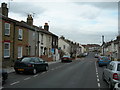
[[[84,47],[82,45],[73,43],[73,41],[65,39],[63,36],[58,39],[58,48],[63,52],[62,55],[60,54],[61,57],[63,55],[77,57],[84,52]]]

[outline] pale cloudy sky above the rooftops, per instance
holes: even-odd
[[[118,35],[118,0],[2,0],[9,17],[26,21],[32,14],[36,26],[80,44],[102,44]]]

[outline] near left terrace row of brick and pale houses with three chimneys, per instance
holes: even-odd
[[[33,25],[32,15],[26,22],[11,19],[6,3],[2,3],[1,9],[3,67],[13,66],[15,60],[24,56],[38,56],[46,61],[59,59],[58,36],[49,31],[48,23],[43,29]]]

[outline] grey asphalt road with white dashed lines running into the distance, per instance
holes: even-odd
[[[94,53],[71,63],[54,63],[46,72],[9,74],[3,88],[108,88],[102,80],[105,67],[98,67]]]

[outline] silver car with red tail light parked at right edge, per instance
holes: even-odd
[[[111,61],[103,70],[102,78],[108,82],[111,90],[116,83],[120,83],[120,61]]]

